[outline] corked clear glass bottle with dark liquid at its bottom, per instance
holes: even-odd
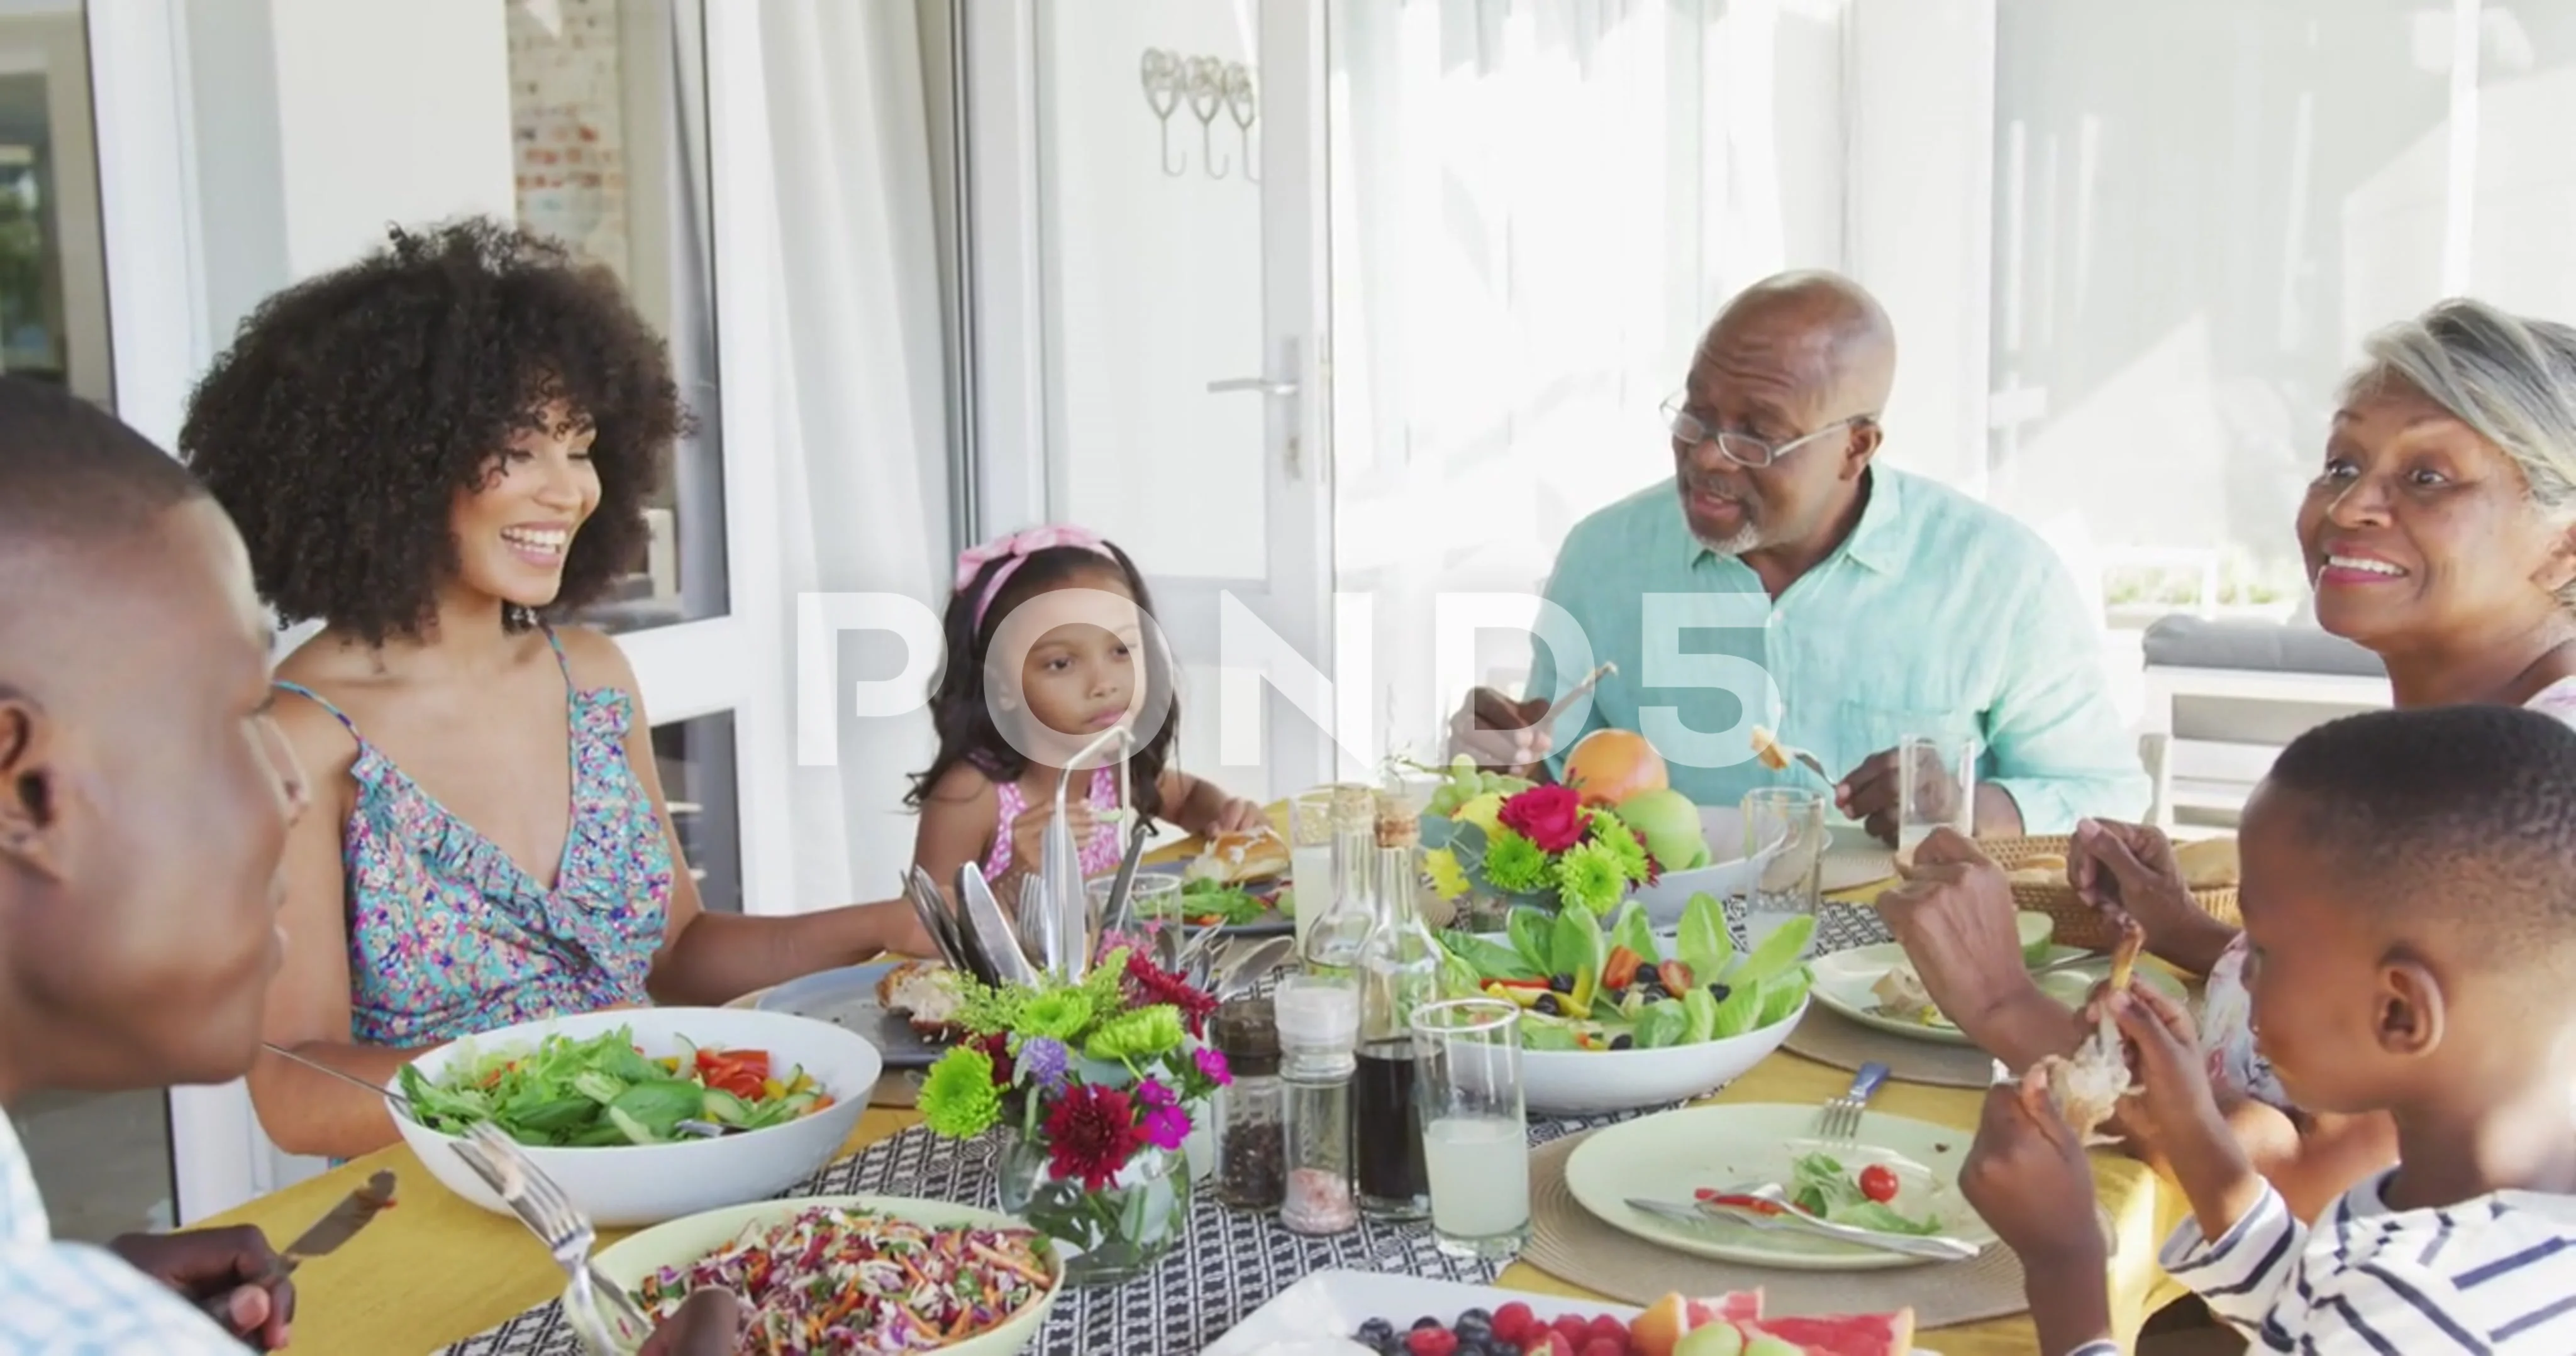
[[[1360,1212],[1425,1220],[1432,1209],[1414,1106],[1414,1009],[1440,1001],[1440,942],[1414,913],[1422,818],[1396,795],[1376,800],[1376,921],[1360,944],[1360,1050],[1352,1137]]]

